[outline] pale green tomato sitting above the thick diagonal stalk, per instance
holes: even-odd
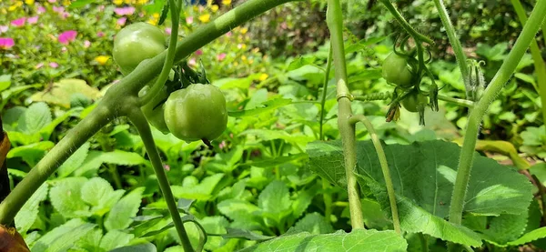
[[[127,25],[114,39],[114,60],[125,76],[147,58],[165,50],[165,35],[157,26],[147,23]]]

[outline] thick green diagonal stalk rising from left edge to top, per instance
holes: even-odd
[[[183,60],[203,45],[217,39],[220,35],[226,34],[231,28],[237,27],[275,6],[291,1],[248,0],[238,5],[226,14],[217,17],[213,22],[199,27],[194,33],[187,35],[183,41],[178,42],[175,63]],[[0,203],[0,224],[11,223],[26,200],[34,194],[39,186],[44,184],[58,166],[66,161],[66,158],[71,156],[79,146],[86,143],[87,139],[95,135],[114,118],[126,116],[127,111],[122,108],[125,99],[120,99],[120,97],[137,97],[138,91],[161,71],[166,58],[167,50],[141,63],[133,72],[109,88],[93,112],[69,130],[66,136],[32,168],[25,178],[15,186],[12,193]]]

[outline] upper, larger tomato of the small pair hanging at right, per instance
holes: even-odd
[[[402,88],[413,86],[408,61],[395,53],[390,53],[383,62],[383,78]]]

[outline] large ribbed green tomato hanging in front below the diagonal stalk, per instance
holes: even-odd
[[[168,130],[182,140],[213,140],[227,126],[226,98],[216,86],[193,84],[168,96],[164,116]]]

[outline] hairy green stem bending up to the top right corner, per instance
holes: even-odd
[[[478,131],[480,129],[481,117],[485,115],[490,104],[495,100],[499,93],[501,93],[502,86],[509,80],[516,69],[516,66],[520,63],[521,57],[525,54],[525,51],[527,51],[527,48],[531,45],[534,36],[539,31],[544,16],[546,16],[546,1],[538,1],[529,17],[529,22],[523,26],[523,30],[521,31],[518,40],[516,40],[510,54],[491,80],[490,85],[485,89],[480,101],[470,112],[462,149],[460,151],[457,178],[455,179],[455,186],[453,186],[453,196],[451,197],[450,205],[450,222],[460,224],[462,220],[464,198],[469,184],[470,168],[474,157],[476,136],[478,136]]]

